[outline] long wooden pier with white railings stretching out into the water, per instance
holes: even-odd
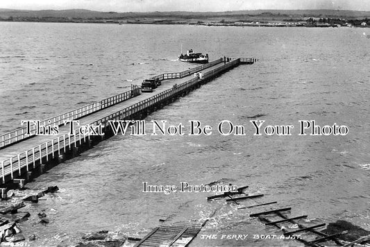
[[[200,87],[226,71],[243,64],[253,64],[254,58],[223,58],[178,73],[154,76],[162,85],[151,93],[142,93],[140,86],[107,99],[85,105],[55,117],[24,124],[22,128],[0,135],[1,198],[8,185],[24,187],[25,182],[54,165],[87,150],[102,139],[113,135],[108,121],[144,119],[151,112],[173,102],[179,96]],[[79,121],[77,124],[65,121]],[[28,126],[27,126],[28,125]],[[53,129],[58,126],[58,131]],[[92,135],[80,126],[101,126],[102,135]],[[73,134],[71,134],[73,130]],[[99,130],[92,130],[98,132]],[[40,135],[49,133],[49,135]],[[53,133],[51,134],[50,133]]]

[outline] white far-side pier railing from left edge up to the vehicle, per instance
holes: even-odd
[[[87,114],[91,114],[92,112],[96,112],[98,110],[107,108],[110,105],[115,105],[121,101],[131,99],[133,96],[137,96],[138,94],[140,94],[140,87],[137,85],[132,85],[131,90],[129,91],[114,96],[110,96],[107,99],[103,99],[101,101],[94,102],[89,105],[84,105],[81,108],[77,108],[75,110],[59,114],[58,116],[51,117],[49,119],[41,120],[36,124],[32,123],[30,124],[30,128],[28,130],[29,135],[27,134],[27,126],[25,124],[25,126],[22,128],[17,128],[16,130],[12,130],[6,134],[0,135],[0,149],[12,143],[19,142],[19,140],[36,135],[38,126],[51,126],[51,125],[60,126],[64,124],[65,121],[79,119],[81,117],[86,116]]]

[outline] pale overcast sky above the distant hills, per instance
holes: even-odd
[[[116,12],[228,11],[258,9],[370,10],[370,0],[0,0],[0,8],[71,9]]]

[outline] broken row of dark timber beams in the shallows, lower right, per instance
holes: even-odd
[[[264,194],[255,194],[249,195],[246,194],[246,190],[248,186],[239,187],[237,192],[226,192],[224,194],[219,194],[215,196],[208,196],[208,201],[214,201],[217,199],[221,199],[222,201],[236,203],[237,209],[250,209],[250,208],[257,208],[260,209],[265,208],[265,206],[271,206],[278,204],[277,201],[267,201],[257,204],[252,204],[249,206],[240,205],[238,201],[254,201],[256,198],[260,198],[264,196]],[[242,194],[246,196],[241,196]],[[228,198],[228,199],[226,199]],[[249,202],[250,203],[250,202]],[[290,212],[292,211],[292,207],[279,207],[274,208],[272,207],[269,210],[264,210],[260,212],[255,212],[249,214],[250,218],[256,217],[260,219],[267,227],[274,226],[278,228],[279,232],[276,234],[272,234],[269,231],[266,233],[265,236],[270,236],[266,239],[271,239],[271,236],[276,239],[286,239],[286,240],[294,240],[300,241],[304,246],[312,246],[312,247],[323,247],[323,246],[369,246],[367,241],[370,239],[370,235],[364,235],[360,238],[358,236],[358,228],[355,228],[354,225],[353,229],[351,229],[348,225],[343,227],[344,230],[336,229],[334,233],[326,234],[325,231],[318,230],[319,228],[323,228],[326,226],[326,223],[317,223],[316,225],[312,225],[310,221],[304,221],[303,223],[300,222],[302,219],[307,219],[308,215],[298,215],[289,217]],[[350,224],[351,225],[351,224]],[[288,230],[288,229],[294,230]],[[333,231],[333,230],[331,230]],[[366,232],[366,231],[364,231]],[[301,236],[302,235],[302,236]],[[348,236],[349,235],[349,236]],[[344,237],[345,236],[345,237]],[[353,239],[354,238],[354,239]],[[351,239],[348,241],[348,239]]]

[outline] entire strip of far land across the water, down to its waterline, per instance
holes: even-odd
[[[99,12],[0,9],[3,22],[166,24],[201,26],[370,27],[370,11],[237,10],[225,12]]]

